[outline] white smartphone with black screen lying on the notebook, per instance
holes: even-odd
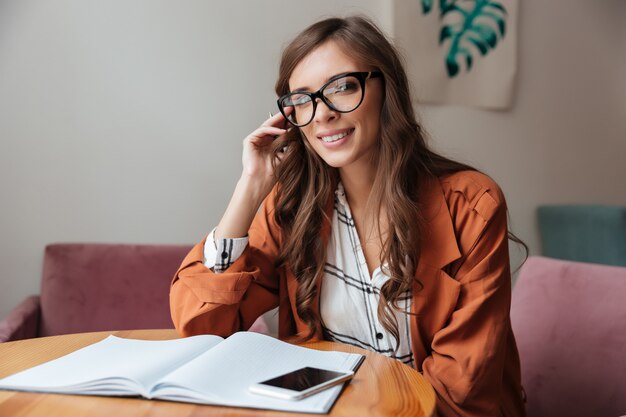
[[[354,372],[338,372],[307,366],[258,384],[250,392],[286,400],[300,400],[334,385],[348,381]]]

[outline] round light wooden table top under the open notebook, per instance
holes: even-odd
[[[127,330],[80,333],[0,343],[0,378],[56,359],[103,340],[113,334],[145,340],[178,337],[174,330]],[[310,342],[303,346],[339,350],[367,356],[352,382],[341,394],[331,416],[434,415],[435,393],[424,377],[394,359],[357,347],[333,342]],[[0,391],[0,416],[10,417],[122,417],[122,416],[311,416],[277,411],[217,407],[138,398],[93,397]]]

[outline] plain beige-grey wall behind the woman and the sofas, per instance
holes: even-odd
[[[537,205],[626,205],[626,2],[520,3],[513,109],[419,111],[537,252]],[[0,0],[0,317],[38,292],[47,243],[202,238],[274,111],[281,46],[330,14],[392,29],[391,0],[294,4]]]

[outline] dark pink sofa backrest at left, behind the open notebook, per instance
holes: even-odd
[[[173,328],[169,285],[191,246],[46,247],[40,336]]]

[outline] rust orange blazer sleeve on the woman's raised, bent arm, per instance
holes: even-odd
[[[227,337],[247,330],[266,311],[278,306],[278,227],[274,193],[265,199],[248,232],[249,244],[224,272],[203,264],[204,239],[193,247],[170,287],[170,313],[182,336]]]

